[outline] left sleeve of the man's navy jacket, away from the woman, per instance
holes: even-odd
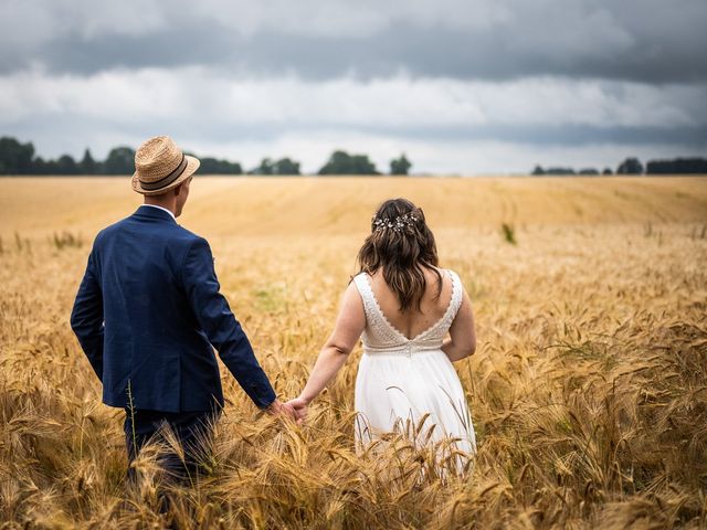
[[[103,293],[101,290],[99,273],[96,263],[96,247],[94,245],[88,255],[88,264],[84,274],[74,308],[71,312],[71,327],[78,338],[84,353],[91,362],[98,379],[103,381]]]

